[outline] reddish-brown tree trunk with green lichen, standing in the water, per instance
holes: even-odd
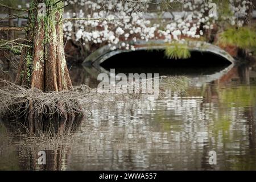
[[[46,5],[41,15],[39,3]],[[63,44],[63,1],[32,0],[26,39],[16,84],[47,91],[72,89]]]

